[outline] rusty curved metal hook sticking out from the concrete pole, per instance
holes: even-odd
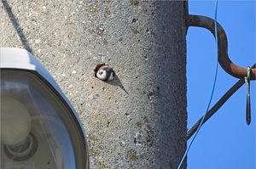
[[[214,31],[214,20],[207,16],[192,15],[189,14],[188,26],[204,27],[211,31],[215,37]],[[218,63],[221,67],[229,73],[231,76],[235,76],[239,79],[243,79],[247,76],[247,68],[242,68],[235,65],[229,58],[228,55],[228,40],[223,27],[217,24],[218,29]],[[251,69],[250,80],[255,80],[256,69]]]

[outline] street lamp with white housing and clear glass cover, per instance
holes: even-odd
[[[88,169],[84,127],[32,54],[0,48],[1,168]]]

